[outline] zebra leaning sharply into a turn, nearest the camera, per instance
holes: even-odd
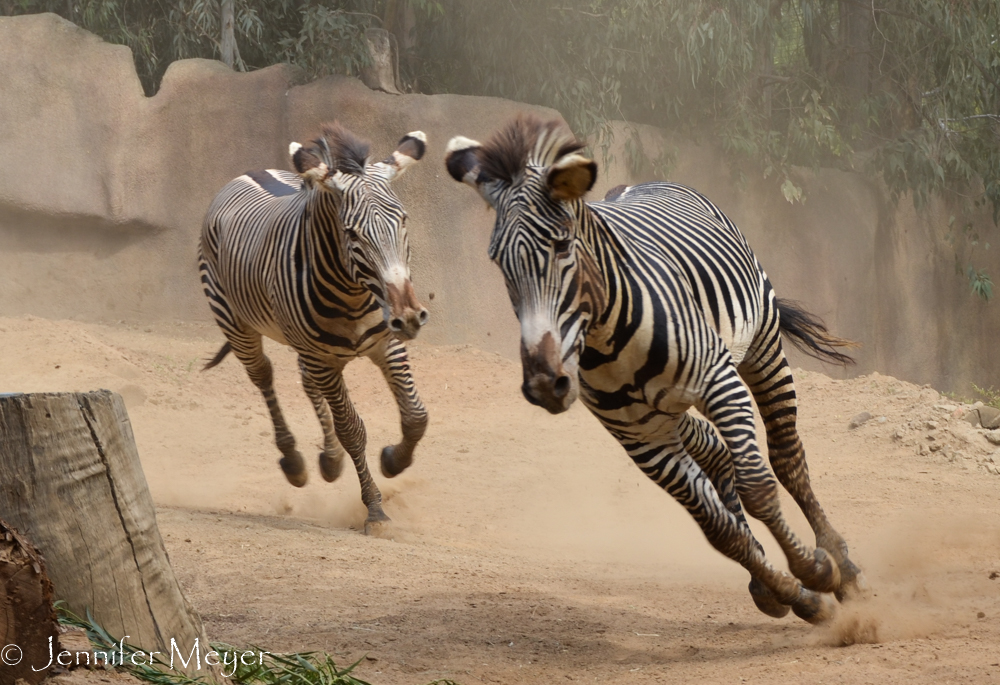
[[[836,348],[853,343],[777,299],[739,229],[700,193],[647,183],[584,202],[597,165],[583,147],[560,120],[521,115],[486,144],[459,136],[447,148],[452,178],[496,212],[489,257],[520,322],[525,398],[553,414],[581,398],[709,542],[750,572],[761,611],[827,620],[836,602],[826,593],[843,600],[867,585],[810,486],[781,333],[838,363],[851,359]],[[786,523],[775,475],[816,548]],[[767,525],[794,575],[771,566],[744,509]]]

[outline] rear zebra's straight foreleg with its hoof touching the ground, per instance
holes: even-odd
[[[379,492],[368,470],[368,462],[365,459],[368,434],[364,422],[351,402],[347,386],[344,385],[343,366],[332,367],[329,360],[305,356],[299,357],[299,362],[301,368],[312,378],[312,382],[326,398],[333,415],[337,440],[351,455],[354,468],[357,469],[358,480],[361,482],[361,501],[368,508],[365,535],[377,533],[381,524],[389,521],[389,517],[382,511],[382,493]]]

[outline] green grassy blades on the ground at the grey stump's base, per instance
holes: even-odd
[[[112,658],[119,664],[116,668],[139,680],[154,685],[208,685],[211,682],[211,679],[204,676],[194,678],[176,670],[159,657],[152,659],[153,664],[135,665],[132,660],[133,654],[143,655],[140,661],[144,661],[149,652],[116,640],[94,620],[89,611],[84,619],[71,612],[62,603],[56,604],[56,610],[61,624],[85,631],[95,650],[113,654]],[[352,671],[364,657],[346,668],[340,668],[333,657],[325,652],[273,654],[258,647],[237,649],[225,643],[213,643],[211,649],[222,655],[222,662],[233,665],[232,674],[227,671],[225,675],[238,685],[370,685],[367,681],[352,675]],[[227,655],[235,657],[247,651],[262,656],[259,660],[251,660],[253,663],[249,666],[242,659],[227,658]],[[458,683],[452,680],[435,680],[428,685],[458,685]]]

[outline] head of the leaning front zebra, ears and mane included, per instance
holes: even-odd
[[[521,391],[553,414],[579,394],[580,353],[604,297],[580,240],[582,198],[597,178],[583,147],[561,121],[521,116],[485,145],[453,138],[446,158],[452,178],[496,210],[489,255],[521,323]]]

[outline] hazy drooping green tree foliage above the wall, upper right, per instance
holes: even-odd
[[[433,89],[555,107],[599,141],[612,119],[714,139],[789,201],[793,165],[865,171],[894,201],[946,198],[959,241],[979,208],[1000,218],[995,0],[443,4],[419,30]],[[988,299],[988,275],[959,266]]]

